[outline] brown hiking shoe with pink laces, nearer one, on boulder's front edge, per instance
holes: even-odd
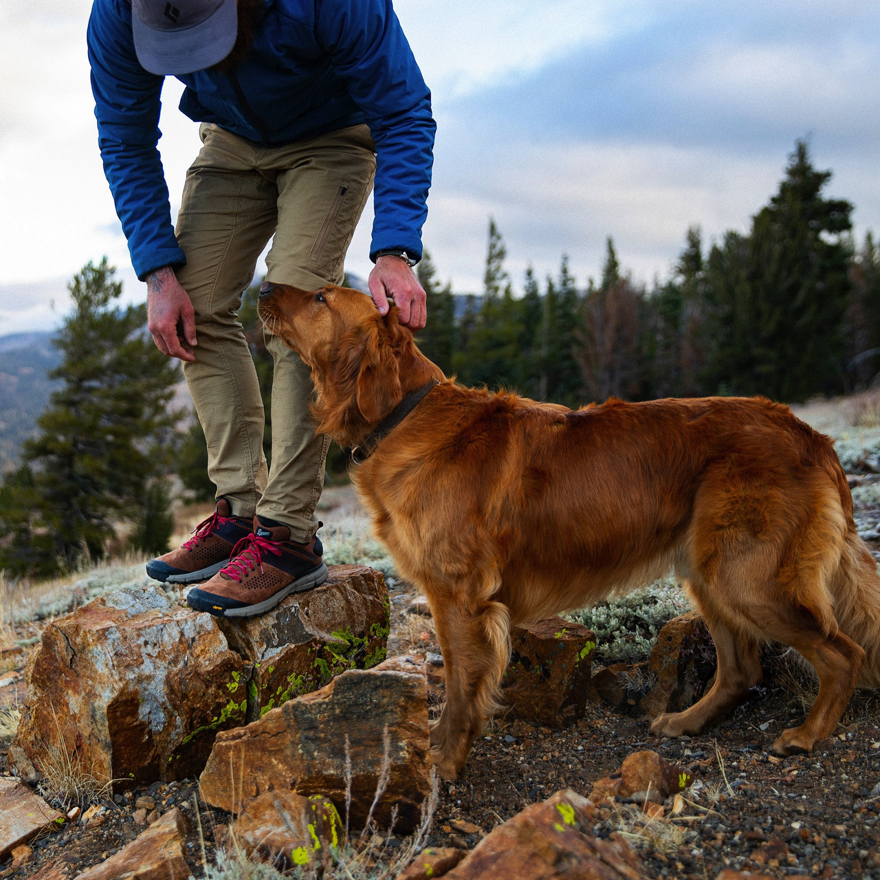
[[[273,522],[270,520],[269,522]],[[290,540],[286,525],[253,519],[253,533],[238,541],[229,565],[194,587],[187,605],[217,617],[256,617],[290,593],[311,590],[327,579],[317,535],[306,544]]]

